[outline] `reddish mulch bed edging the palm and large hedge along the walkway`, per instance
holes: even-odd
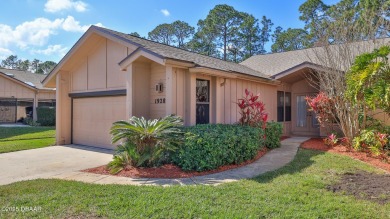
[[[137,168],[137,167],[128,167],[115,176],[124,176],[124,177],[132,177],[132,178],[166,178],[166,179],[172,179],[172,178],[189,178],[193,176],[203,176],[208,175],[212,173],[218,173],[238,167],[242,167],[245,165],[248,165],[250,163],[255,162],[260,157],[262,157],[264,154],[267,153],[267,148],[264,148],[258,152],[256,157],[252,160],[245,161],[241,164],[232,164],[232,165],[225,165],[222,167],[219,167],[215,170],[209,170],[209,171],[203,171],[203,172],[196,172],[196,171],[184,171],[180,169],[180,167],[173,165],[173,164],[166,164],[161,167],[155,167],[155,168]],[[100,166],[95,167],[91,169],[83,170],[83,172],[89,172],[89,173],[96,173],[96,174],[103,174],[103,175],[112,175],[110,174],[110,171],[107,169],[106,166]]]

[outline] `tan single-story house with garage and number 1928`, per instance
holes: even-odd
[[[252,65],[259,57],[232,63],[92,26],[43,81],[57,88],[57,144],[112,148],[112,123],[131,116],[235,123],[245,89],[261,94],[269,120],[283,122],[286,135],[320,135],[303,106],[316,91],[297,76],[311,66]]]

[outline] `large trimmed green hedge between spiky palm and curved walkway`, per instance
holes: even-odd
[[[264,147],[264,131],[241,125],[207,124],[183,128],[185,143],[172,154],[183,170],[205,171],[253,159]]]

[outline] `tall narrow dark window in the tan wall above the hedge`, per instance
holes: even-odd
[[[210,81],[196,79],[196,124],[210,122]]]

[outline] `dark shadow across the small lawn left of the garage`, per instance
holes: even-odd
[[[0,127],[0,141],[8,141],[5,140],[5,138],[11,138],[18,135],[35,134],[35,133],[50,131],[53,129],[54,127]],[[54,138],[55,136],[52,137]],[[43,138],[48,138],[48,137],[43,137]],[[34,138],[28,138],[28,139],[34,139]]]

